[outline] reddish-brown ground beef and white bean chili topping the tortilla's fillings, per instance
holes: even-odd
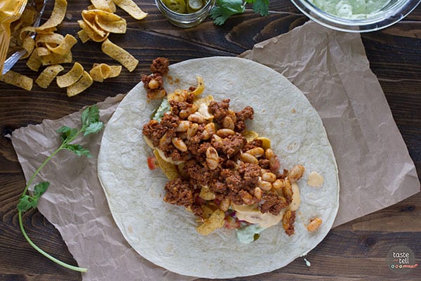
[[[168,60],[154,60],[151,70],[152,76],[142,77],[144,83],[166,74]],[[150,89],[145,88],[149,98]],[[203,119],[197,117],[200,113],[193,105],[195,99],[187,92],[184,99],[178,96],[168,100],[171,111],[163,115],[161,122],[150,120],[142,129],[154,148],[177,164],[180,171],[179,178],[166,183],[163,200],[186,207],[202,220],[208,216],[206,208],[219,208],[231,216],[231,204],[253,205],[262,213],[280,214],[291,202],[288,171],[278,171],[279,160],[259,138],[247,141],[243,136],[246,121],[253,119],[253,108],[246,106],[235,112],[229,108],[229,99],[210,101],[208,113],[213,118]],[[186,111],[191,112],[182,114]],[[203,188],[206,198],[201,195]],[[294,232],[294,220],[295,212],[283,218],[288,235]]]

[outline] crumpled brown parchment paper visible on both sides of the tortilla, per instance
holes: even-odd
[[[241,56],[281,72],[321,115],[340,171],[335,226],[420,191],[415,166],[369,69],[359,34],[308,22]],[[103,122],[121,98],[123,95],[98,103]],[[76,112],[13,131],[13,146],[25,178],[60,145],[55,130],[62,125],[77,126],[80,115]],[[51,182],[39,200],[39,211],[58,228],[79,266],[89,268],[83,280],[194,279],[149,263],[123,239],[97,178],[100,140],[98,134],[81,141],[91,150],[91,158],[61,151],[38,178]]]

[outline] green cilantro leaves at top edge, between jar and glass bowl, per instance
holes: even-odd
[[[269,0],[216,0],[210,18],[215,25],[223,25],[230,16],[244,13],[246,4],[251,4],[253,11],[259,15],[269,15]]]

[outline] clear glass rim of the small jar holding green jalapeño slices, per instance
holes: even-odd
[[[156,7],[169,22],[178,27],[194,27],[203,22],[215,5],[215,0],[208,0],[199,11],[194,13],[177,13],[169,9],[162,0],[155,0]]]

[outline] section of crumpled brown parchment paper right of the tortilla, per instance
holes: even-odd
[[[240,55],[272,67],[319,112],[340,179],[333,226],[420,192],[420,181],[359,34],[307,22]]]

